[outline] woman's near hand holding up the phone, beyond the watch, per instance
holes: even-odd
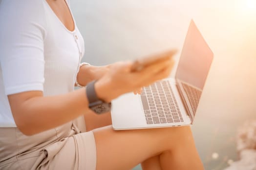
[[[116,97],[131,91],[140,91],[157,80],[170,75],[174,65],[172,58],[159,61],[138,72],[131,71],[131,62],[118,62],[109,66],[109,71],[95,83],[100,99],[110,102]]]

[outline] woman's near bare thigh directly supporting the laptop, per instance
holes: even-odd
[[[180,155],[184,154],[185,159],[187,156],[200,163],[190,127],[115,131],[111,126],[106,126],[93,130],[93,134],[97,170],[129,170],[165,151],[175,154],[175,148],[181,148],[181,145],[185,145],[184,149],[188,149],[189,153]]]

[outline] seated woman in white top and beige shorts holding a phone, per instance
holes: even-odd
[[[167,77],[173,61],[139,72],[79,65],[84,41],[68,5],[0,1],[0,169],[203,170],[190,127],[114,131],[110,113],[89,108],[90,91],[74,91],[90,85],[110,102]]]

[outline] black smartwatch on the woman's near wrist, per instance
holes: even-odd
[[[107,103],[98,98],[94,89],[95,82],[96,81],[92,81],[86,85],[86,96],[89,102],[89,108],[97,114],[110,112],[111,102]]]

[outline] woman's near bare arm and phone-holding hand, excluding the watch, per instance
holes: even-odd
[[[167,77],[172,59],[158,62],[140,72],[131,72],[130,63],[115,63],[95,83],[98,97],[106,102]],[[89,111],[85,89],[64,95],[43,97],[42,91],[8,95],[17,127],[25,135],[34,135],[62,125]]]

